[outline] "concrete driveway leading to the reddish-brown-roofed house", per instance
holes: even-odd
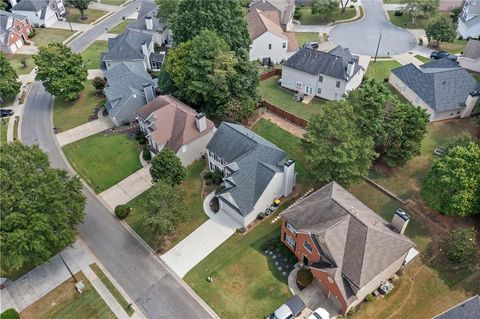
[[[147,165],[139,169],[120,183],[98,194],[98,196],[105,201],[111,210],[114,210],[117,205],[128,203],[152,187],[150,167],[151,165]]]

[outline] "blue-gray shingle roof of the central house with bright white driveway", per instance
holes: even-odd
[[[254,208],[275,173],[283,170],[286,153],[249,129],[223,122],[207,145],[207,150],[230,163],[228,187],[218,194],[240,215]]]

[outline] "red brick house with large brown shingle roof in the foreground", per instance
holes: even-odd
[[[281,241],[343,314],[395,274],[415,246],[403,235],[407,214],[388,223],[336,182],[280,216]]]

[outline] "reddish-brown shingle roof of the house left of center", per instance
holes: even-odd
[[[170,95],[159,96],[137,111],[138,116],[151,125],[151,136],[158,145],[177,152],[182,145],[213,130],[215,125],[206,120],[207,129],[200,132],[195,124],[198,113]]]

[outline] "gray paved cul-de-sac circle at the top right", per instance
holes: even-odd
[[[394,55],[416,46],[415,37],[388,20],[382,0],[363,0],[365,16],[356,22],[340,24],[330,32],[330,41],[362,55],[375,55],[380,32],[378,56]]]

